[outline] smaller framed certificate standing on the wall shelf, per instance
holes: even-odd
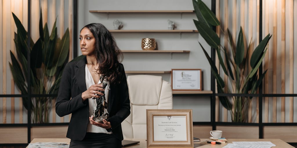
[[[201,91],[201,69],[172,69],[173,91]]]

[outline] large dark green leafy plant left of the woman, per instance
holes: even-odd
[[[17,33],[15,33],[16,55],[10,51],[12,72],[15,85],[20,89],[21,94],[27,94],[27,87],[30,84],[31,94],[57,94],[62,71],[68,61],[69,51],[69,30],[65,31],[60,39],[57,36],[56,21],[51,34],[48,25],[42,27],[42,13],[40,10],[39,32],[40,38],[34,43],[31,40],[30,48],[27,46],[27,31],[21,24],[18,17],[12,13]],[[27,53],[30,52],[30,66],[27,66]],[[28,83],[28,71],[30,70],[30,83]],[[33,123],[47,123],[50,101],[54,97],[23,97],[23,105],[28,110],[28,103],[31,104],[31,120]],[[29,122],[29,121],[28,121]]]

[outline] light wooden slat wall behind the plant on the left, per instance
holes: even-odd
[[[68,3],[67,3],[68,2]],[[69,33],[70,33],[70,55],[72,59],[72,0],[57,0],[58,5],[60,5],[59,14],[56,14],[56,0],[31,0],[31,37],[34,42],[39,38],[39,19],[40,19],[40,8],[42,7],[42,19],[43,25],[48,22],[50,18],[50,24],[48,24],[49,31],[53,27],[53,23],[58,16],[60,19],[60,24],[56,24],[58,27],[58,36],[61,38],[61,34],[64,34],[64,20],[68,20]],[[67,6],[64,5],[67,4]],[[68,7],[67,14],[64,14],[64,8]],[[36,9],[39,8],[39,9]],[[27,30],[27,20],[28,20],[28,0],[0,0],[0,34],[1,34],[1,48],[6,49],[1,51],[1,94],[20,94],[18,89],[15,89],[13,78],[11,76],[9,62],[10,60],[10,50],[15,53],[15,44],[13,41],[14,32],[17,31],[15,22],[12,17],[12,13],[18,17],[22,22],[24,28]],[[3,23],[5,22],[5,23]],[[1,123],[23,123],[26,122],[26,118],[23,118],[23,114],[26,116],[26,112],[23,113],[23,102],[22,98],[0,98],[1,106]],[[15,112],[17,111],[17,112]],[[55,100],[53,100],[53,111],[52,118],[50,122],[56,122],[56,112],[55,112]],[[10,118],[11,117],[11,118]],[[59,120],[59,122],[64,122],[64,120]]]

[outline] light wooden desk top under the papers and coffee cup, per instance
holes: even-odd
[[[144,139],[126,139],[126,140],[133,140],[133,141],[140,141],[140,143],[127,146],[124,148],[146,148],[146,140]],[[207,139],[201,139],[201,141],[205,141]],[[232,141],[270,141],[273,144],[275,144],[275,147],[272,148],[294,148],[290,144],[287,144],[285,141],[282,141],[280,139],[227,139],[228,143],[232,143]],[[70,139],[68,138],[34,138],[31,143],[36,143],[36,142],[67,142],[67,144],[70,143]],[[194,147],[199,147],[199,148],[221,148],[227,145],[228,143],[223,143],[221,145],[216,144],[201,144],[201,142],[194,142]]]

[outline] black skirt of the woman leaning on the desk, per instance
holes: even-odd
[[[86,133],[82,141],[70,140],[69,148],[121,148],[121,140],[113,134]]]

